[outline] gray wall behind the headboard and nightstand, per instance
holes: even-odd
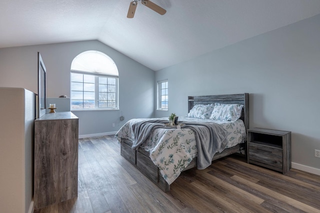
[[[187,96],[248,92],[250,127],[291,131],[292,162],[320,169],[320,15],[156,72],[165,78],[169,111],[156,117],[186,115]]]

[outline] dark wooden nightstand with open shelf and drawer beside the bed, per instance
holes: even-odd
[[[252,128],[247,130],[247,163],[283,175],[291,168],[291,132]]]

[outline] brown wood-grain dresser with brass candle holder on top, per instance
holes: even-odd
[[[47,113],[34,122],[34,209],[77,197],[78,118]]]

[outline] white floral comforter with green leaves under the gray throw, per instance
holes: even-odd
[[[128,139],[132,141],[132,143],[135,143],[137,136],[134,136],[132,127],[142,122],[151,123],[154,120],[155,119],[132,119],[120,128],[115,137],[119,142],[121,142],[121,139]],[[167,119],[164,119],[163,123],[166,121],[168,122]],[[213,120],[183,117],[179,118],[179,122],[180,124],[183,122],[212,123]],[[218,152],[245,140],[245,129],[241,120],[235,122],[214,121],[214,123],[219,123],[227,132],[223,145],[216,147]],[[163,125],[163,128],[154,129],[143,139],[144,141],[139,144],[150,153],[150,159],[159,168],[164,180],[168,184],[171,184],[180,175],[181,171],[187,167],[192,158],[198,154],[198,148],[196,146],[196,137],[198,137],[198,134],[195,133],[196,130],[187,128],[187,126],[184,126],[184,128],[183,126],[181,126],[182,128],[179,128],[179,126],[177,128],[168,128],[165,127],[164,124],[158,125]],[[198,146],[201,147],[201,144],[198,144]],[[202,147],[200,149],[202,150]],[[208,161],[210,161],[210,159],[208,159]]]

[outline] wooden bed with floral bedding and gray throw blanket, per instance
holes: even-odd
[[[214,151],[212,161],[233,153],[239,153],[242,150],[246,155],[246,151],[245,151],[246,130],[249,126],[249,104],[248,104],[249,100],[248,99],[249,99],[248,93],[229,94],[229,95],[188,96],[188,112],[189,112],[188,115],[191,113],[192,110],[194,110],[194,108],[196,108],[196,106],[199,106],[199,105],[201,106],[203,105],[209,106],[210,104],[241,105],[242,108],[240,109],[241,114],[239,115],[240,116],[239,119],[232,122],[226,122],[226,121],[211,122],[212,120],[209,120],[209,119],[179,117],[178,121],[180,122],[180,125],[171,127],[167,125],[168,120],[165,120],[165,119],[132,119],[126,122],[126,124],[124,124],[115,135],[115,137],[120,142],[120,147],[121,147],[120,154],[132,165],[134,165],[143,175],[145,175],[149,180],[151,180],[155,185],[157,185],[163,192],[168,192],[170,190],[170,183],[174,181],[174,179],[180,174],[181,171],[185,171],[194,167],[203,169],[203,167],[208,166],[208,162],[206,162],[204,166],[201,165],[203,161],[203,157],[202,157],[203,154],[201,153],[203,152],[203,149],[205,148],[205,146],[203,146],[204,147],[203,148],[201,147],[201,144],[199,144],[199,143],[202,143],[201,140],[206,137],[199,137],[201,134],[197,131],[201,132],[203,129],[206,129],[206,128],[210,129],[208,132],[210,132],[210,134],[215,134],[214,137],[212,138],[210,137],[210,140],[213,140],[213,139],[220,140],[219,142],[215,142],[218,145],[216,147],[216,151]],[[197,126],[197,125],[200,125],[200,126]],[[233,129],[226,130],[228,129],[226,127],[230,127],[230,126],[233,126]],[[200,130],[197,128],[200,128]],[[215,128],[218,128],[218,129],[215,129]],[[224,130],[221,130],[221,128]],[[192,132],[194,135],[192,135]],[[231,134],[232,132],[234,134],[237,134],[237,136],[232,135]],[[131,135],[135,135],[135,136],[129,137]],[[144,135],[146,136],[142,137]],[[161,146],[162,145],[164,146],[164,144],[167,144],[169,141],[169,138],[171,141],[174,138],[176,139],[177,137],[179,138],[179,140],[180,138],[185,137],[185,139],[183,138],[183,140],[189,141],[190,143],[187,143],[187,145],[185,143],[183,145],[180,145],[180,147],[183,147],[182,152],[180,149],[179,153],[170,154],[170,158],[174,155],[180,155],[181,160],[174,159],[175,164],[177,164],[177,162],[179,162],[179,166],[180,166],[180,162],[183,162],[183,164],[181,163],[182,166],[180,166],[179,168],[180,171],[176,173],[177,175],[175,174],[175,177],[172,177],[171,180],[168,181],[167,176],[164,175],[165,170],[168,170],[168,168],[163,169],[159,165],[160,163],[163,163],[163,161],[164,161],[163,164],[167,165],[166,163],[168,161],[164,158],[160,158],[161,156],[154,156],[155,155],[154,153],[161,154],[162,148],[163,148]],[[195,139],[191,140],[190,138],[192,137],[194,137]],[[160,143],[159,143],[160,145],[157,144],[159,141],[161,141],[162,144]],[[237,141],[237,142],[230,143],[227,141]],[[176,143],[176,141],[170,142],[170,143],[174,144]],[[150,144],[151,145],[153,144],[152,148],[150,148],[151,146]],[[195,146],[194,144],[197,144],[197,146]],[[200,148],[200,150],[197,150],[197,148]],[[152,149],[152,152],[150,151],[151,149]],[[161,150],[161,152],[159,150]],[[192,152],[194,150],[195,150],[195,153]],[[156,158],[160,160],[160,163],[158,161],[156,164],[155,162]],[[180,158],[180,157],[178,156],[176,158]],[[204,158],[204,159],[207,159],[207,158]],[[209,164],[211,164],[211,160],[209,161]],[[175,166],[176,165],[174,165],[174,167]]]

